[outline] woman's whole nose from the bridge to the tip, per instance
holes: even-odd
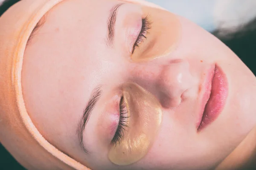
[[[175,108],[184,99],[183,93],[196,83],[189,67],[185,59],[159,60],[136,63],[128,73],[132,81],[156,96],[163,108]]]

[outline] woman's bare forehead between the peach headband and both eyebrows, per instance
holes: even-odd
[[[75,124],[99,84],[96,71],[102,61],[99,57],[108,54],[107,21],[116,3],[64,0],[44,16],[44,24],[27,45],[22,70],[24,100],[46,138],[54,139],[48,125],[58,125],[56,133],[67,130],[72,131],[67,136],[76,135]]]

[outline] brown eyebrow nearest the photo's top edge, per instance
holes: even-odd
[[[113,8],[111,8],[110,15],[108,17],[108,36],[106,40],[106,44],[108,47],[113,47],[114,44],[114,37],[115,37],[115,26],[116,26],[116,13],[120,6],[122,6],[124,3],[119,3]]]

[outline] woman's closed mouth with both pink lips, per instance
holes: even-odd
[[[227,96],[227,77],[218,65],[214,65],[208,72],[204,82],[204,95],[201,102],[201,111],[196,124],[198,132],[215,121],[222,112]]]

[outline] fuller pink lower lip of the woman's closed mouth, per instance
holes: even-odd
[[[198,131],[201,131],[207,125],[210,125],[222,112],[228,96],[227,77],[218,65],[215,66],[215,72],[212,78],[212,89],[209,100],[204,108],[201,123]]]

